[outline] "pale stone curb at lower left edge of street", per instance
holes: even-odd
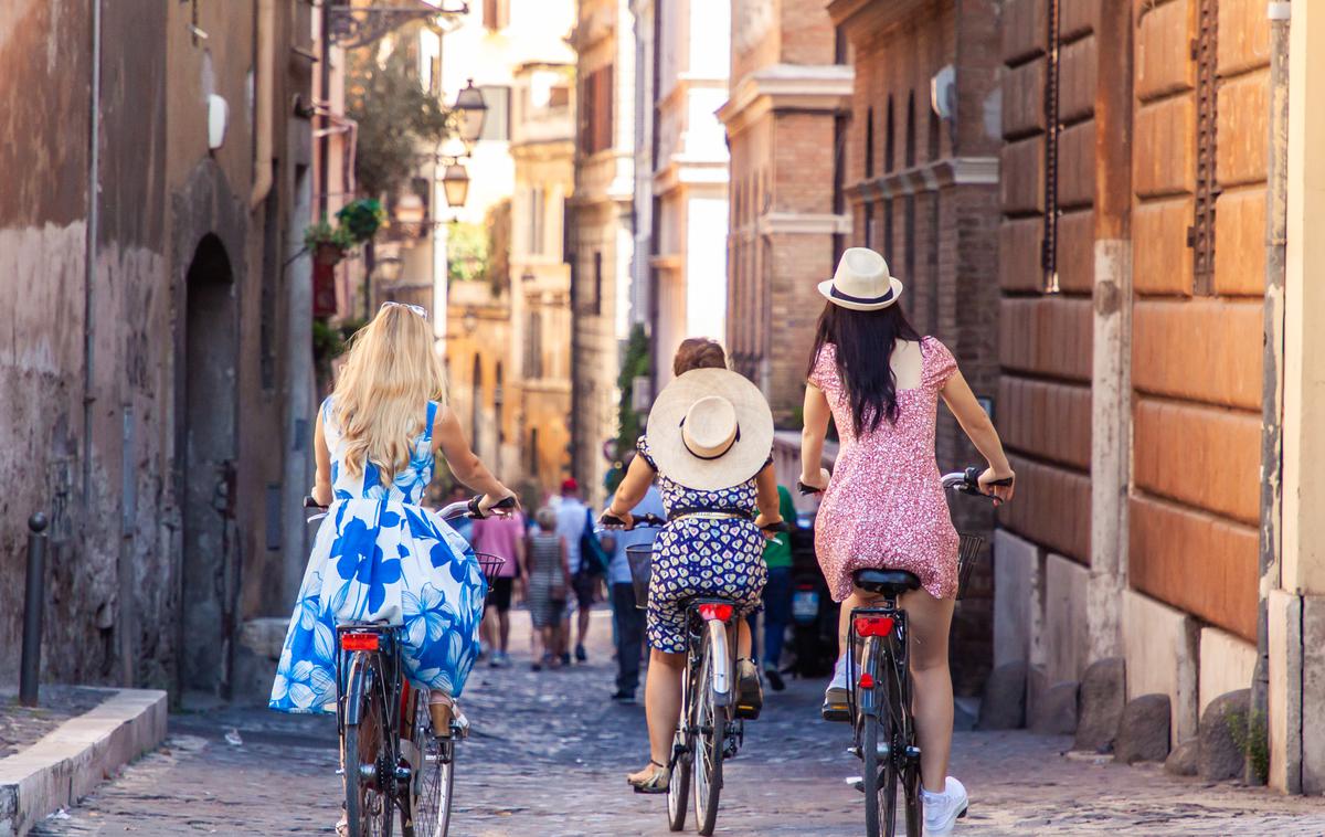
[[[0,759],[0,837],[23,837],[166,739],[164,691],[107,691],[113,694],[91,711]]]

